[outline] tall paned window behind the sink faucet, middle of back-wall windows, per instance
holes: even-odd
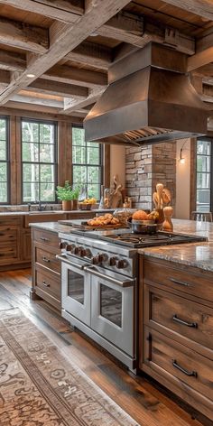
[[[56,200],[57,125],[22,120],[23,203]]]

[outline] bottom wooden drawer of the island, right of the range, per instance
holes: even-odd
[[[144,363],[168,378],[168,373],[181,389],[187,384],[213,401],[212,361],[197,352],[166,338],[155,330],[144,328]],[[176,380],[177,382],[177,380]],[[176,383],[177,384],[177,383]],[[187,392],[187,389],[185,389]]]

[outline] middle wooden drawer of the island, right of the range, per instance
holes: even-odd
[[[213,310],[194,301],[144,285],[144,323],[213,350]]]

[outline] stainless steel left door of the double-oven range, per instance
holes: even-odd
[[[60,256],[59,256],[60,257]],[[85,263],[61,263],[61,308],[90,326],[91,275],[84,271]]]

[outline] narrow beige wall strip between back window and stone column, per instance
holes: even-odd
[[[110,184],[113,186],[113,176],[118,175],[119,181],[125,188],[125,146],[110,145]]]

